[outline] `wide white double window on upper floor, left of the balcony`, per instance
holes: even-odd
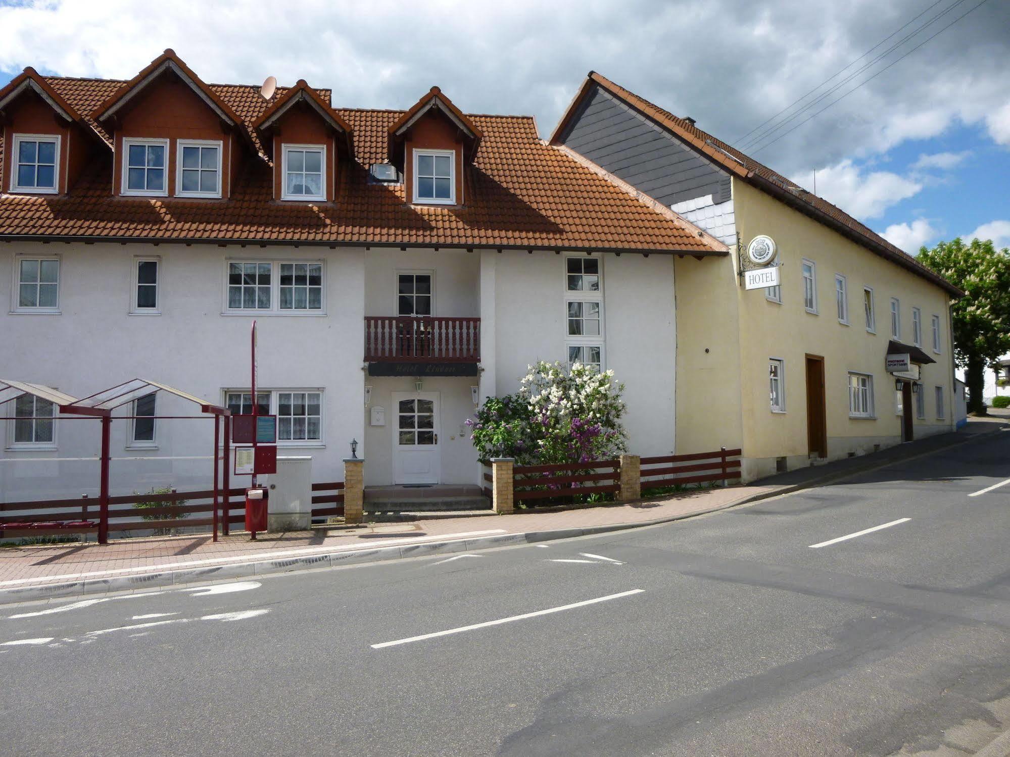
[[[225,313],[322,315],[324,289],[319,260],[225,261]]]

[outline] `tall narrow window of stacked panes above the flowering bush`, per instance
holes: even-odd
[[[568,363],[603,370],[603,261],[588,255],[565,258],[565,335]]]

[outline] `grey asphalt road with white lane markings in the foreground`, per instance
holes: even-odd
[[[973,753],[1010,483],[970,495],[1008,477],[1000,432],[663,526],[3,607],[0,753]]]

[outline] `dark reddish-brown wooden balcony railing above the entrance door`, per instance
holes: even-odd
[[[365,318],[366,362],[478,362],[480,318]]]

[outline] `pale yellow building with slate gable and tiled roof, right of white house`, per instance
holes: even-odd
[[[593,72],[550,141],[732,251],[675,261],[678,453],[739,445],[752,479],[953,430],[944,279]]]

